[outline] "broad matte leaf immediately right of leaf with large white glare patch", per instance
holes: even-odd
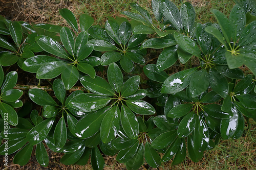
[[[196,96],[207,90],[209,82],[209,75],[205,69],[201,69],[195,72],[195,74],[193,74],[193,76],[191,77],[189,83],[189,89],[192,98],[195,98]]]

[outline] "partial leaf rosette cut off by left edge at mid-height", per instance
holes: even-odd
[[[23,102],[19,100],[23,95],[23,91],[13,89],[17,83],[17,78],[18,74],[16,71],[11,71],[5,76],[0,65],[0,113],[3,120],[12,126],[18,124],[18,115],[14,108],[23,106]]]

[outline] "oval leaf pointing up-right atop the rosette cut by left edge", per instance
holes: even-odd
[[[5,91],[12,89],[16,85],[17,79],[18,74],[16,71],[8,72],[5,76],[4,83],[2,84],[1,92],[4,93]]]

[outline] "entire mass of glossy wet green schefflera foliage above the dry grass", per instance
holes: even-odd
[[[25,165],[35,145],[42,166],[47,147],[67,165],[91,157],[103,169],[102,154],[117,154],[127,169],[157,168],[186,151],[197,162],[220,138],[242,136],[245,118],[256,120],[253,1],[237,1],[229,18],[212,10],[218,23],[204,24],[187,2],[130,6],[136,13],[123,14],[132,20],[110,17],[103,28],[86,14],[78,26],[68,9],[59,12],[69,27],[0,19],[0,139],[9,140],[1,155],[17,152],[13,162]],[[156,61],[147,48],[160,52]],[[50,93],[25,91],[38,110],[20,100],[18,73],[7,67],[16,63],[52,82]]]

